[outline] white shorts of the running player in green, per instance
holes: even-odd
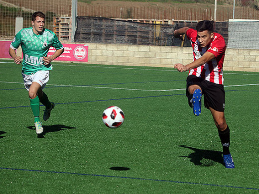
[[[35,74],[26,75],[21,73],[24,87],[27,91],[30,89],[32,82],[37,82],[43,89],[49,80],[49,71],[37,71]]]

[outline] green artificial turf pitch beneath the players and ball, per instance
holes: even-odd
[[[187,73],[172,68],[53,63],[56,106],[37,137],[20,65],[0,63],[0,193],[257,193],[259,73],[224,72],[235,169],[226,169],[208,109],[194,116]],[[242,85],[242,86],[238,86]],[[247,86],[245,86],[247,85]],[[229,87],[231,86],[231,87]],[[181,90],[175,90],[181,89]],[[125,113],[116,129],[105,108]]]

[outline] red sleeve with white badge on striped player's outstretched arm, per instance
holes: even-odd
[[[219,35],[216,35],[219,36]],[[211,47],[208,49],[207,52],[210,52],[215,55],[217,58],[218,56],[222,55],[226,50],[226,43],[222,36],[216,37],[212,43]]]

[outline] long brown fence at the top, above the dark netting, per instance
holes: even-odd
[[[219,0],[218,0],[219,1]],[[235,1],[235,3],[234,3]],[[105,6],[81,4],[78,16],[96,16],[109,18],[134,19],[173,19],[173,20],[203,20],[215,19],[228,21],[229,19],[259,19],[259,0],[229,0],[228,3],[208,4],[202,8],[193,3],[192,7],[148,7],[148,6]]]

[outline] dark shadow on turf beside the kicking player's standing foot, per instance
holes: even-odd
[[[179,147],[189,148],[194,151],[193,153],[189,154],[189,156],[180,156],[180,157],[190,158],[190,161],[197,166],[209,167],[209,166],[216,165],[216,163],[220,163],[224,165],[222,152],[213,151],[213,150],[202,150],[202,149],[188,147],[185,145],[180,145]]]

